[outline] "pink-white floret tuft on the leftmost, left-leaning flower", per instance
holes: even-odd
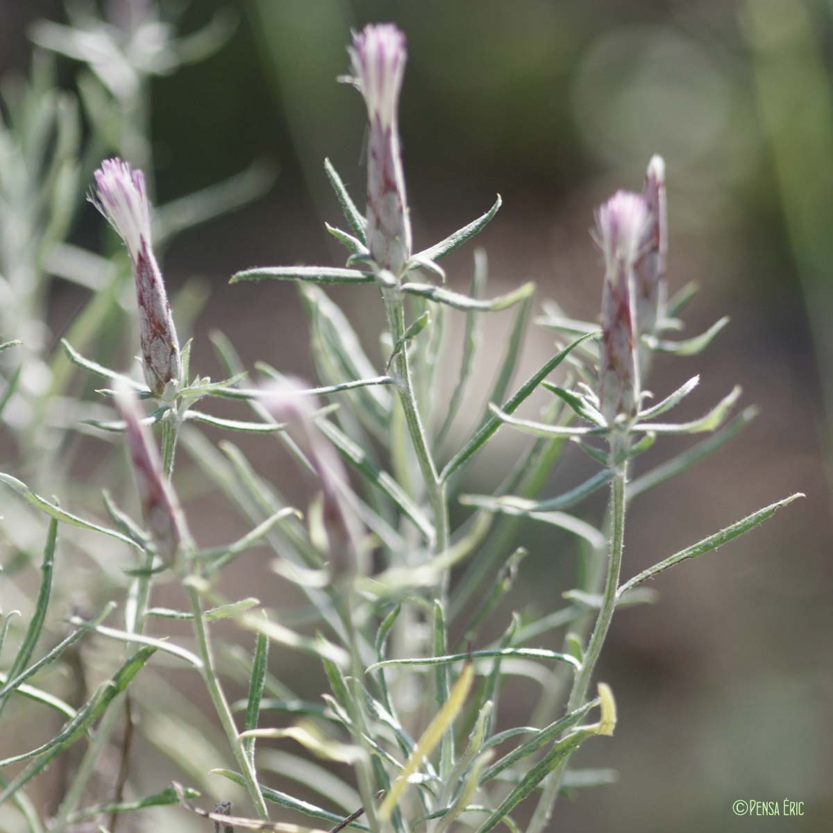
[[[121,159],[105,159],[94,174],[96,193],[92,204],[116,229],[136,262],[143,245],[151,246],[151,209],[147,202],[145,175]]]

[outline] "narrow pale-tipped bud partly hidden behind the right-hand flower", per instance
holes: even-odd
[[[651,220],[646,231],[643,252],[636,263],[636,332],[653,335],[660,305],[662,283],[666,276],[668,221],[666,216],[666,163],[655,156],[648,163],[642,196]]]

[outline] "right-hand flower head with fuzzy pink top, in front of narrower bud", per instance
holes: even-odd
[[[634,356],[635,267],[650,219],[645,197],[626,191],[616,192],[596,212],[605,256],[599,400],[601,412],[611,424],[616,416],[636,416],[639,402]]]

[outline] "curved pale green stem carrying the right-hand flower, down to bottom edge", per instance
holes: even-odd
[[[611,461],[616,455],[616,443],[611,443]],[[605,644],[607,631],[610,629],[613,612],[616,610],[616,591],[619,589],[619,574],[621,571],[622,551],[625,545],[625,483],[627,463],[621,462],[617,466],[616,477],[611,481],[611,548],[607,563],[605,587],[601,596],[601,607],[596,617],[596,626],[587,643],[587,650],[581,661],[581,668],[573,681],[570,700],[567,702],[567,713],[583,705],[587,698],[587,690],[596,663],[599,661],[601,649]],[[549,824],[552,808],[555,806],[561,779],[564,776],[570,756],[566,756],[547,779],[538,801],[535,814],[532,816],[526,833],[542,833]]]

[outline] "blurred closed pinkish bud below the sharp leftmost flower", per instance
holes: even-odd
[[[177,496],[162,472],[156,446],[142,426],[136,396],[124,385],[116,389],[116,407],[125,422],[127,448],[136,477],[142,516],[156,547],[157,555],[168,566],[173,564],[185,532],[185,521]]]

